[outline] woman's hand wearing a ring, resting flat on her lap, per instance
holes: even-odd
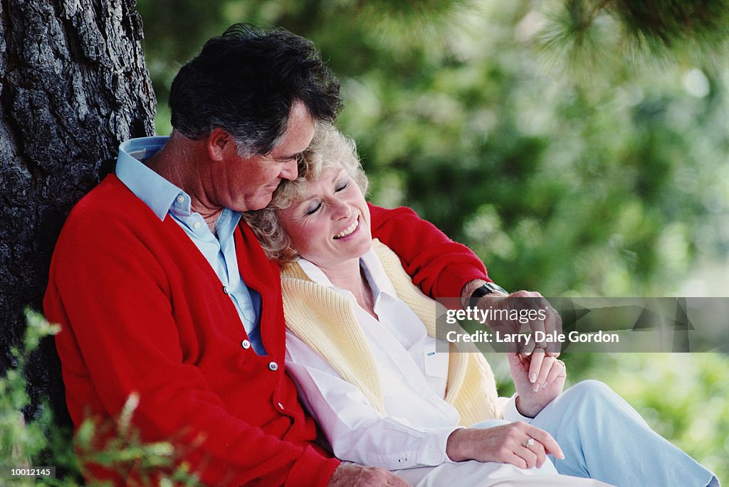
[[[519,468],[542,467],[547,454],[564,459],[549,433],[522,421],[493,428],[456,429],[448,437],[445,453],[453,462],[500,462]]]

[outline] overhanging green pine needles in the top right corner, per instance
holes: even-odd
[[[725,0],[547,0],[532,40],[556,63],[592,76],[625,63],[721,66],[727,7]]]

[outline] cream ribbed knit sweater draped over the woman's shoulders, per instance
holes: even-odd
[[[397,297],[424,323],[428,334],[436,334],[436,317],[445,308],[425,296],[402,269],[399,258],[386,245],[373,240],[373,248]],[[353,305],[327,286],[313,282],[297,263],[281,270],[286,325],[305,344],[324,357],[342,378],[354,384],[383,415],[387,415],[375,361]],[[443,324],[438,335],[445,336]],[[486,359],[472,344],[451,344],[445,401],[460,413],[460,424],[470,426],[501,416],[502,401]]]

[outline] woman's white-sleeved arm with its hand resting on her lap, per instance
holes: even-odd
[[[422,428],[383,416],[362,392],[293,333],[286,336],[286,368],[300,400],[341,460],[388,470],[477,460],[541,467],[547,454],[564,458],[549,433],[518,421],[491,428]],[[529,450],[529,438],[537,443]]]

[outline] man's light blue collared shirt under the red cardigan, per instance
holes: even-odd
[[[261,296],[243,282],[238,271],[238,260],[235,258],[233,231],[241,220],[241,213],[223,208],[213,234],[202,215],[193,213],[190,209],[190,195],[144,165],[142,161],[162,149],[168,139],[142,137],[123,142],[119,146],[117,157],[117,177],[160,220],[170,215],[192,239],[235,304],[253,349],[258,355],[266,355],[259,326]]]

